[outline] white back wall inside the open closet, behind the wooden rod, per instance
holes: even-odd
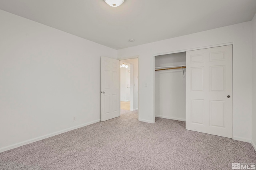
[[[186,65],[186,52],[155,57],[155,67]],[[155,72],[155,116],[185,121],[186,78],[182,69]]]

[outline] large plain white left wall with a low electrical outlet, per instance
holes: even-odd
[[[0,152],[100,121],[100,56],[116,50],[2,10],[0,24]]]

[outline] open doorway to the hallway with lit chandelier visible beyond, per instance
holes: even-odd
[[[138,58],[120,61],[120,113],[138,113]]]

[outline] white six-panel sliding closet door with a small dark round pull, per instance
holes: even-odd
[[[186,129],[232,138],[232,45],[186,52]]]

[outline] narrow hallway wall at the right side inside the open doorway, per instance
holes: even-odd
[[[135,111],[138,109],[138,59],[128,59],[124,60],[128,63],[130,63],[133,67],[133,70],[131,70],[131,77],[133,77],[133,80],[131,80],[131,111]],[[131,68],[132,68],[131,67]]]

